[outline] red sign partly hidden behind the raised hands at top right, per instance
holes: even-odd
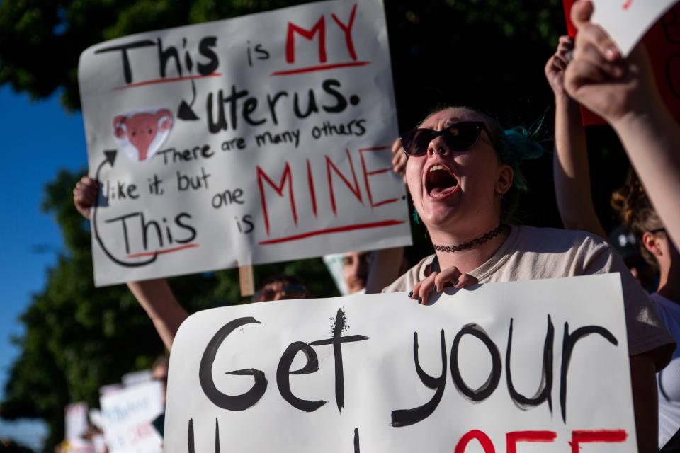
[[[570,16],[573,3],[574,0],[564,0],[567,29],[572,38],[576,35],[576,28]],[[639,5],[637,7],[648,5],[652,8],[659,8],[662,4],[668,3],[672,5],[674,1],[633,0],[633,3]],[[612,4],[616,4],[616,2]],[[599,4],[596,5],[599,6]],[[652,68],[654,69],[657,87],[662,98],[664,98],[667,108],[674,117],[680,119],[680,4],[676,4],[673,8],[669,9],[652,28],[645,28],[645,31],[647,29],[649,29],[649,32],[645,35],[644,42],[647,47],[647,53],[650,56]],[[599,115],[592,113],[587,108],[581,108],[581,113],[584,125],[606,124]]]

